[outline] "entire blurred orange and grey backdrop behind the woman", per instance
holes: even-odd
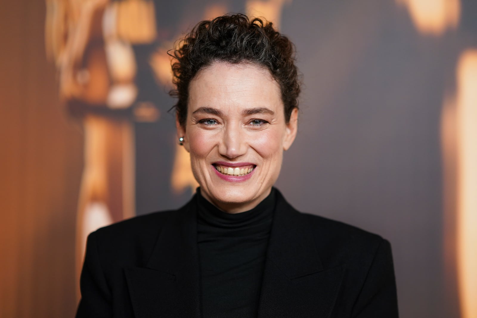
[[[477,317],[477,1],[46,0],[0,10],[0,317],[73,317],[85,237],[176,208],[167,50],[244,12],[296,44],[277,187],[393,247],[401,317]]]

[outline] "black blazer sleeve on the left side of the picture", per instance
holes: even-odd
[[[99,258],[97,232],[88,236],[80,277],[81,300],[76,318],[112,317],[111,291]]]

